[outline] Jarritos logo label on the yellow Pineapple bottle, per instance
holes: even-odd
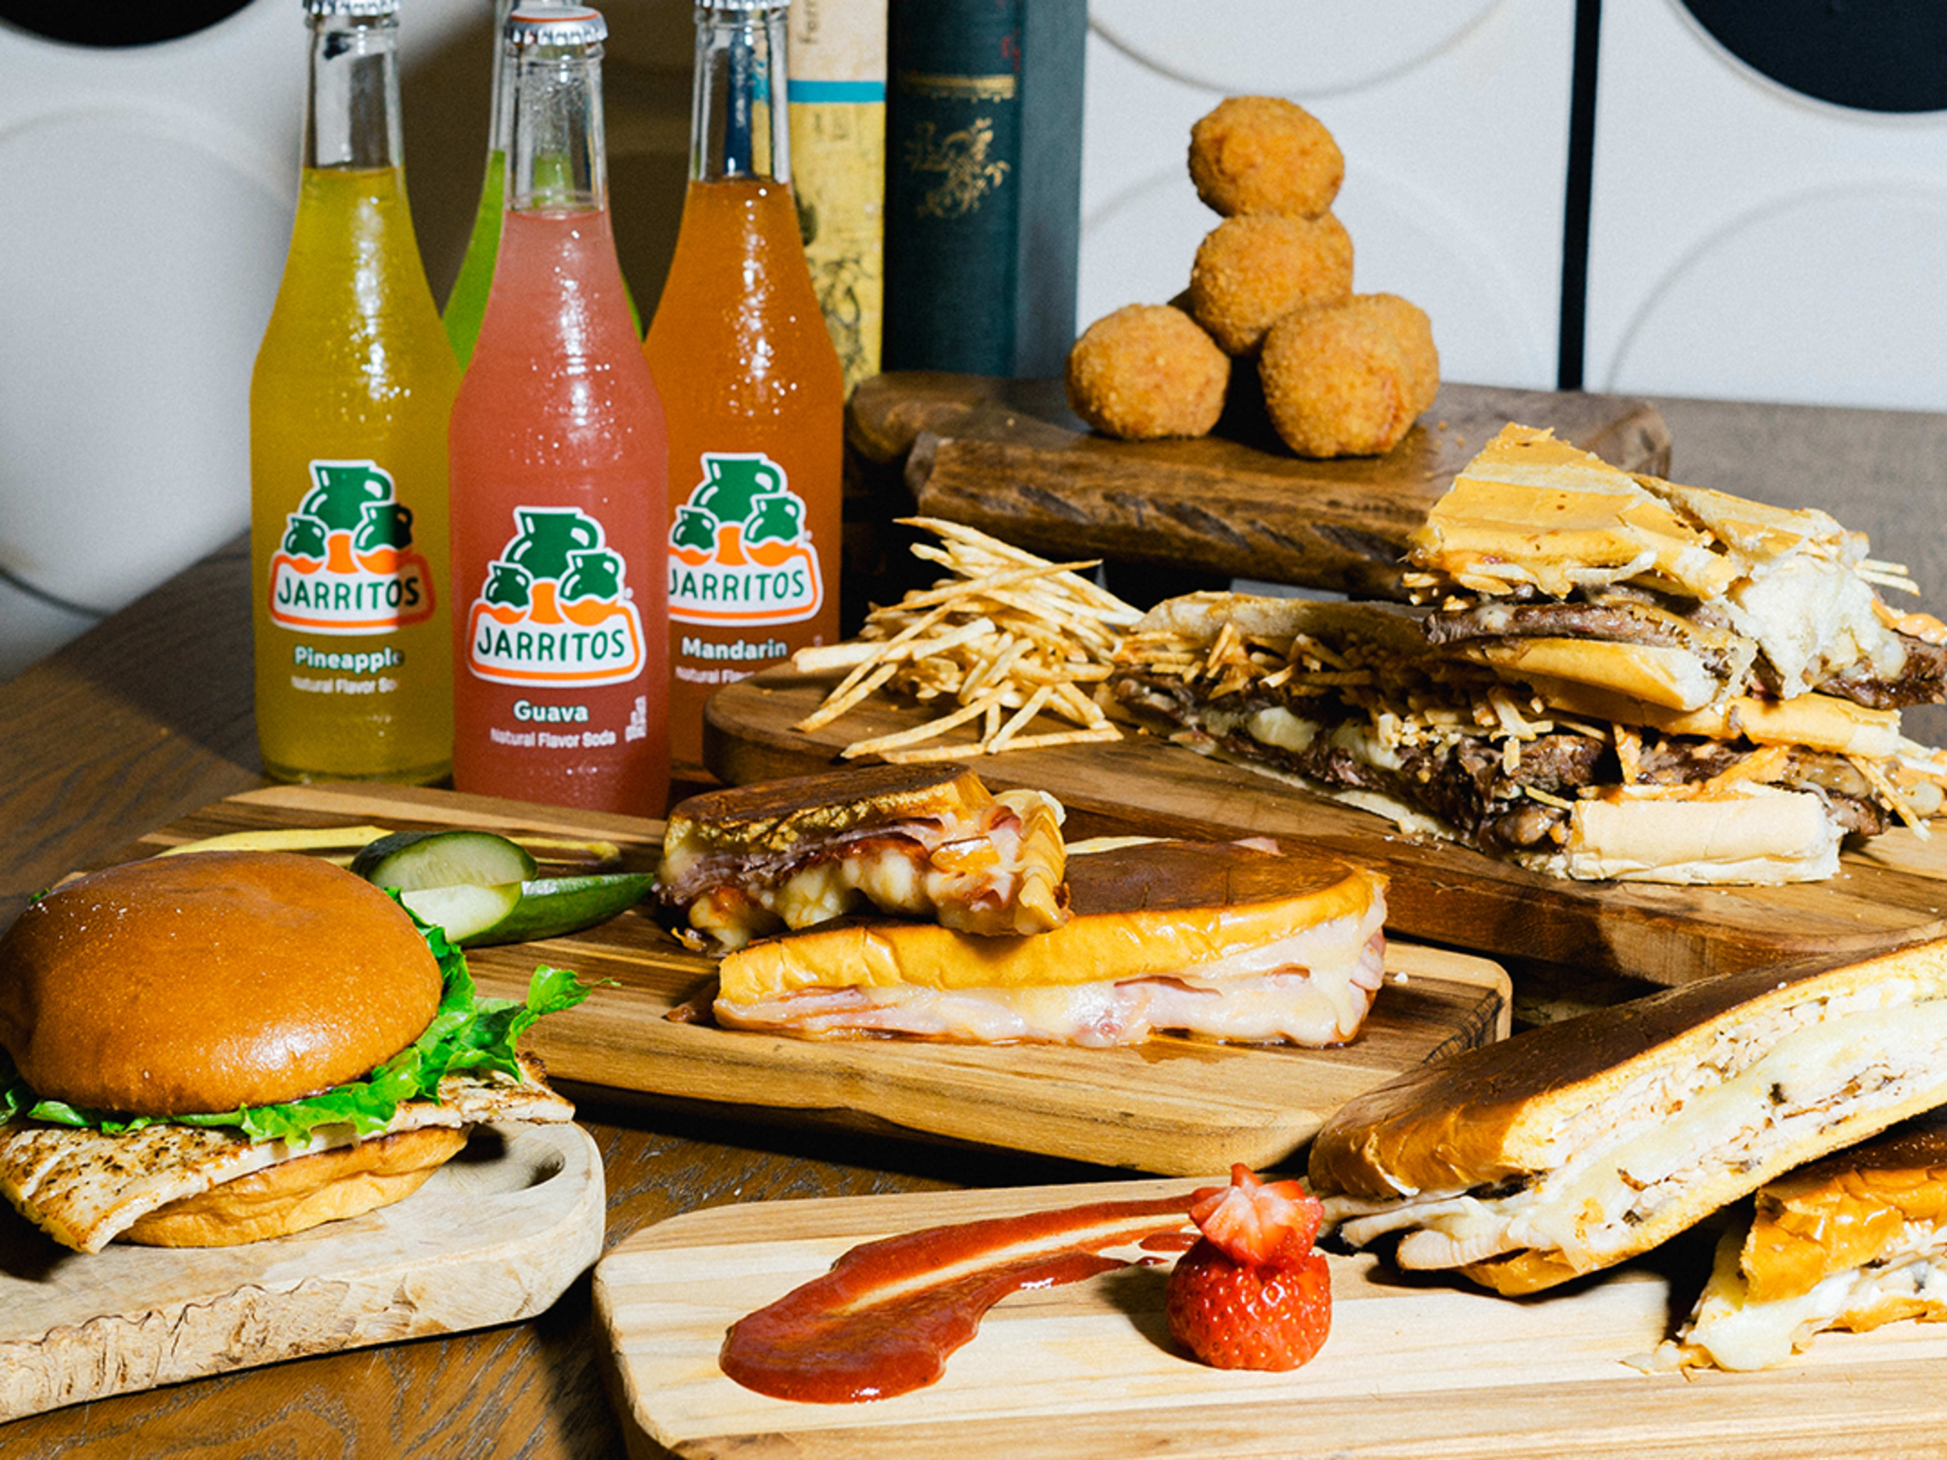
[[[271,621],[319,635],[374,635],[432,617],[432,566],[413,549],[413,510],[376,461],[312,461],[312,491],[271,555]]]

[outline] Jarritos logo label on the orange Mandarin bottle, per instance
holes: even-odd
[[[824,607],[804,498],[761,452],[705,452],[703,481],[670,524],[670,617],[748,629]]]

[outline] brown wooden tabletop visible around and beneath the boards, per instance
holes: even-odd
[[[1657,401],[1672,475],[1817,502],[1904,557],[1939,609],[1947,417]],[[249,568],[214,553],[0,683],[0,923],[64,872],[265,785],[251,716]],[[1929,726],[1931,730],[1931,726]],[[1100,1168],[752,1125],[662,1102],[586,1104],[607,1166],[607,1244],[732,1201],[1100,1180]],[[621,1433],[584,1277],[537,1320],[302,1359],[0,1427],[0,1454],[611,1456]]]

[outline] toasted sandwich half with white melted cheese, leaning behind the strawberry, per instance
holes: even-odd
[[[1947,940],[1731,973],[1433,1061],[1341,1108],[1338,1236],[1534,1293],[1947,1102]]]

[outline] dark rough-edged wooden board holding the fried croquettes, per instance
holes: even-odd
[[[1293,456],[1262,417],[1232,415],[1201,440],[1118,442],[1069,415],[1059,380],[933,372],[861,382],[845,438],[866,475],[903,481],[882,485],[864,516],[917,504],[1057,561],[1398,598],[1408,535],[1511,420],[1626,471],[1671,469],[1669,428],[1647,401],[1454,383],[1392,452],[1336,461]]]

